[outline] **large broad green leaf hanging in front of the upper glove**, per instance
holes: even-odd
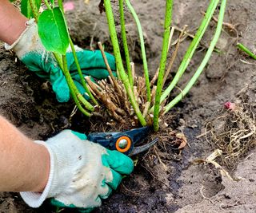
[[[69,34],[62,11],[59,7],[45,10],[38,18],[38,34],[46,50],[66,54]]]

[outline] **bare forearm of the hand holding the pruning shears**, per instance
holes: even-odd
[[[50,156],[0,116],[0,191],[42,191],[50,171]]]

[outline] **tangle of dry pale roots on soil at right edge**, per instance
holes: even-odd
[[[222,161],[234,168],[256,144],[254,105],[235,104],[206,125],[206,139],[222,150]]]

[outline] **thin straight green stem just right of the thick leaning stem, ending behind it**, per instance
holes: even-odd
[[[133,76],[130,68],[130,54],[129,54],[127,39],[126,39],[126,22],[125,22],[125,16],[123,11],[123,0],[119,0],[119,14],[120,14],[120,22],[121,22],[122,44],[123,44],[123,49],[125,50],[125,55],[126,55],[127,73],[129,77],[130,86],[133,87],[134,80],[133,80]]]

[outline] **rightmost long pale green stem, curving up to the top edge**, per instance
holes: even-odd
[[[194,85],[195,81],[198,80],[198,77],[202,73],[202,70],[205,68],[207,62],[210,59],[211,54],[214,51],[214,47],[218,41],[218,37],[220,36],[222,32],[222,22],[225,14],[225,8],[226,8],[226,0],[222,0],[219,16],[218,16],[218,25],[216,27],[216,32],[214,34],[214,37],[212,41],[210,42],[210,46],[206,52],[206,56],[203,58],[201,65],[199,65],[197,71],[194,73],[194,76],[190,79],[189,83],[186,85],[185,89],[182,90],[182,93],[178,94],[177,97],[174,98],[173,101],[170,101],[168,105],[166,105],[165,112],[168,112],[170,108],[172,108],[174,105],[176,105],[179,101],[182,100],[182,97],[186,95],[191,89],[191,87]]]

